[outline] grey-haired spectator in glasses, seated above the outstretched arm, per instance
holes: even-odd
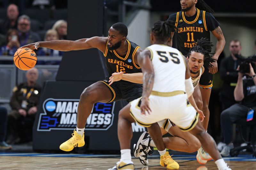
[[[41,41],[40,36],[30,30],[30,18],[27,15],[21,15],[18,19],[18,33],[20,46]]]

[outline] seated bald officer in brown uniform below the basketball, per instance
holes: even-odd
[[[32,140],[32,127],[35,120],[41,87],[36,83],[38,70],[32,68],[26,73],[27,82],[14,87],[10,105],[12,111],[8,115],[7,143],[15,144]],[[20,128],[26,122],[27,130]],[[19,128],[19,129],[18,129]],[[22,131],[21,131],[22,130]],[[27,136],[19,134],[28,134]]]

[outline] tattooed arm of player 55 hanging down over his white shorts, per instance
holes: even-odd
[[[154,85],[154,68],[150,60],[151,53],[148,49],[143,50],[138,55],[138,64],[140,65],[143,72],[143,91],[142,101],[140,105],[141,114],[145,115],[146,111],[150,114],[151,109],[149,107],[148,97],[153,89]]]

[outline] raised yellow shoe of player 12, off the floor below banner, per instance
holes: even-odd
[[[60,145],[60,150],[68,152],[72,151],[74,147],[82,147],[84,144],[84,134],[81,137],[81,135],[79,135],[76,130],[74,130],[72,137]]]

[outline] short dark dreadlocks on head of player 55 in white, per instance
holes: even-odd
[[[174,21],[156,21],[151,28],[157,40],[166,41],[176,29]]]

